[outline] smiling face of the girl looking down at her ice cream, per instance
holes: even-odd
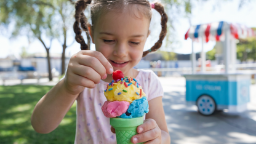
[[[140,62],[149,33],[150,20],[138,12],[108,12],[99,17],[92,31],[92,42],[114,70],[133,76],[132,68]]]

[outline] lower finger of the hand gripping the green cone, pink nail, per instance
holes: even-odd
[[[154,140],[157,137],[159,137],[159,130],[155,128],[155,129],[151,129],[146,132],[143,132],[142,134],[137,134],[132,136],[130,141],[132,143],[142,143],[142,142],[148,142],[150,140]]]

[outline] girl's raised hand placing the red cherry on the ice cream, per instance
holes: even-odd
[[[72,95],[77,95],[84,87],[90,89],[113,73],[113,67],[101,52],[81,50],[72,55],[64,80],[64,85]]]

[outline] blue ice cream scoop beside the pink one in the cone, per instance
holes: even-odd
[[[138,118],[144,116],[145,113],[148,113],[148,100],[146,97],[134,100],[126,113],[123,113],[118,118]]]

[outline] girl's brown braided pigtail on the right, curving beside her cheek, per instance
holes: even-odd
[[[166,12],[164,12],[164,6],[162,6],[162,4],[160,2],[155,2],[155,3],[151,4],[151,7],[152,7],[152,9],[155,9],[156,11],[158,11],[159,14],[161,15],[162,30],[159,35],[158,41],[154,44],[153,47],[151,47],[151,49],[143,52],[142,57],[145,57],[150,52],[154,52],[154,51],[158,50],[162,46],[162,40],[164,39],[164,37],[166,36],[166,33],[167,33],[168,17],[166,15]]]

